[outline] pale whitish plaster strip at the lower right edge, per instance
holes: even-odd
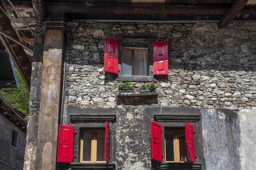
[[[241,170],[256,169],[256,108],[241,109]]]

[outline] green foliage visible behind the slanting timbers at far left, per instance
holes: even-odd
[[[16,68],[15,72],[17,74],[20,88],[5,88],[0,91],[0,93],[14,108],[25,115],[29,115],[29,90]]]

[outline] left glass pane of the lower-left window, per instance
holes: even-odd
[[[90,161],[92,147],[92,133],[84,133],[83,161]]]

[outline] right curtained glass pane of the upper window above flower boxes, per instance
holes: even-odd
[[[148,48],[134,49],[134,75],[148,76]]]

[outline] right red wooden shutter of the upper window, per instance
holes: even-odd
[[[153,42],[153,74],[168,75],[168,42]]]

